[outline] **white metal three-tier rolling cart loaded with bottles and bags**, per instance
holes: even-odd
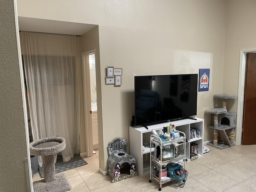
[[[178,186],[183,187],[187,178],[187,174],[176,175],[168,172],[168,167],[170,168],[170,165],[178,165],[173,164],[177,162],[182,162],[183,165],[181,167],[183,167],[185,170],[186,135],[181,131],[178,131],[178,133],[179,137],[174,140],[166,140],[166,138],[161,136],[158,137],[153,134],[150,136],[150,146],[154,144],[155,147],[150,149],[151,160],[149,182],[151,183],[152,180],[155,180],[158,184],[160,184],[160,188],[158,189],[159,191],[161,191],[162,184],[173,180],[180,180]]]

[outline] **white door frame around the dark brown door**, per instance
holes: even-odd
[[[244,86],[246,74],[246,54],[256,52],[255,49],[240,50],[238,98],[237,98],[237,120],[236,120],[236,145],[242,143],[243,116],[244,116]]]

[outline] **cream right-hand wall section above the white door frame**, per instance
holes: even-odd
[[[225,40],[225,66],[223,92],[238,94],[240,50],[256,48],[256,1],[228,0]],[[237,104],[227,102],[227,107],[236,112]]]

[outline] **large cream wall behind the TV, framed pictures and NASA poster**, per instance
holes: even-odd
[[[223,90],[225,9],[223,0],[18,2],[19,16],[99,25],[103,170],[107,170],[108,142],[116,137],[129,142],[134,75],[199,73],[199,68],[210,68],[210,90],[198,92],[197,116],[205,118],[205,141],[212,140],[207,128],[211,117],[204,111],[213,108],[213,95]],[[105,85],[106,66],[123,68],[122,86]]]

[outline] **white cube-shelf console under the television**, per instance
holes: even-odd
[[[143,126],[129,126],[129,144],[130,154],[136,160],[136,169],[140,176],[145,176],[150,173],[150,135],[153,130],[162,130],[167,125],[174,124],[176,130],[180,130],[186,134],[186,153],[185,157],[190,160],[190,144],[193,142],[198,145],[198,156],[203,156],[203,140],[204,140],[204,119],[183,119],[172,122],[160,123],[148,126],[146,129]],[[200,137],[190,139],[190,128],[195,127],[200,129]],[[145,150],[142,150],[145,146]],[[152,148],[151,150],[154,150]]]

